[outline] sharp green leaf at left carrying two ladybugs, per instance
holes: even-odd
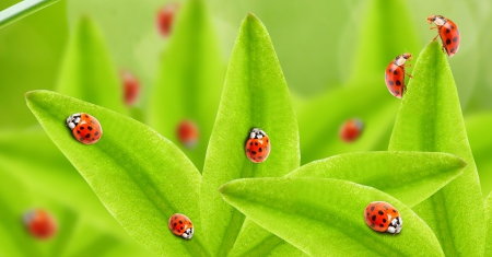
[[[26,100],[55,144],[140,244],[157,255],[207,254],[198,207],[200,173],[177,147],[133,119],[69,96],[34,91]],[[65,126],[73,113],[99,120],[104,135],[96,144],[73,139]],[[168,230],[167,220],[176,212],[194,222],[190,241]]]

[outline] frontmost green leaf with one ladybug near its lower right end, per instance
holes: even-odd
[[[363,185],[331,178],[246,178],[223,198],[257,224],[311,256],[444,256],[432,230],[410,208]],[[400,234],[365,224],[364,209],[387,201],[400,212]]]

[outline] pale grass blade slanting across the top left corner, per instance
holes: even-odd
[[[0,12],[0,28],[49,7],[58,0],[24,0]]]

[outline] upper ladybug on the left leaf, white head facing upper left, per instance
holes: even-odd
[[[96,143],[103,136],[99,121],[89,114],[70,115],[67,126],[72,130],[73,137],[83,144]]]

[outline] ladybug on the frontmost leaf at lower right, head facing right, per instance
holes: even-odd
[[[364,211],[365,223],[377,232],[398,234],[403,221],[398,210],[385,201],[373,201]]]

